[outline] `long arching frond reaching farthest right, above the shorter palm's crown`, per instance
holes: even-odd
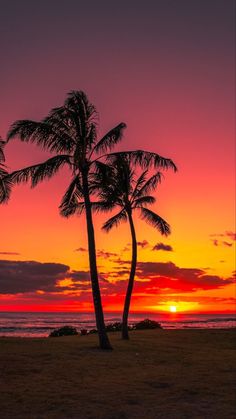
[[[121,156],[126,156],[130,159],[134,165],[139,164],[142,168],[161,168],[161,169],[172,169],[174,172],[177,171],[177,167],[171,159],[160,156],[157,153],[151,153],[144,150],[135,150],[135,151],[122,151],[119,153],[110,153],[107,156],[109,161],[114,161],[116,156],[120,154]]]

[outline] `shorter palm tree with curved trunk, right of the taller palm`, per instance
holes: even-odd
[[[170,226],[158,214],[147,208],[148,205],[152,205],[156,201],[150,193],[160,183],[161,173],[157,172],[147,178],[148,170],[145,170],[137,178],[131,160],[127,155],[117,155],[113,163],[113,176],[110,177],[110,182],[103,183],[103,190],[100,193],[101,201],[96,205],[96,208],[99,209],[100,205],[100,209],[106,211],[119,207],[119,212],[103,225],[102,228],[106,232],[109,232],[113,227],[117,227],[122,221],[128,221],[130,225],[132,261],[122,318],[122,338],[129,339],[128,315],[137,265],[137,239],[133,211],[139,210],[141,218],[156,228],[162,235],[170,234]]]

